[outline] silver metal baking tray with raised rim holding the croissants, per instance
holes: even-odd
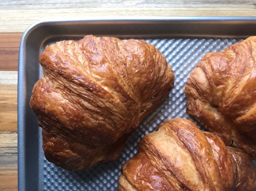
[[[41,21],[22,36],[18,70],[18,188],[22,190],[116,190],[121,165],[137,152],[140,138],[164,120],[188,118],[183,87],[189,73],[207,52],[256,35],[255,17],[122,17]],[[49,163],[42,149],[41,128],[29,107],[34,84],[42,75],[38,57],[46,45],[79,40],[87,34],[144,39],[160,50],[175,73],[174,88],[156,111],[129,137],[117,161],[87,172],[69,172]]]

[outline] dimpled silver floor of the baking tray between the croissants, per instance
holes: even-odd
[[[117,36],[118,37],[118,36]],[[124,39],[119,37],[120,39]],[[136,37],[127,37],[136,38]],[[78,40],[78,38],[68,38],[68,40]],[[140,38],[143,39],[143,38]],[[59,39],[63,40],[63,39]],[[122,154],[117,161],[98,164],[86,172],[69,172],[48,162],[44,158],[44,152],[40,145],[40,167],[39,181],[43,190],[116,190],[118,187],[118,177],[121,173],[121,166],[137,153],[140,138],[152,132],[164,120],[171,118],[186,118],[196,123],[202,129],[202,125],[193,117],[186,113],[186,97],[183,91],[189,73],[195,68],[198,61],[208,52],[223,51],[226,47],[243,39],[231,38],[175,38],[175,39],[145,39],[153,44],[166,58],[175,73],[174,88],[164,99],[159,107],[149,114],[132,135],[128,138]],[[41,52],[48,44],[42,46]],[[42,71],[41,71],[42,73]],[[42,136],[39,135],[40,141]]]

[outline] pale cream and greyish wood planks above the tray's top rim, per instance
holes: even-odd
[[[0,0],[0,32],[24,32],[42,19],[84,19],[95,16],[254,16],[249,0]]]

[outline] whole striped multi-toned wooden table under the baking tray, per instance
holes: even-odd
[[[256,16],[250,0],[27,0],[0,3],[0,190],[17,190],[17,79],[22,33],[41,19],[78,19],[106,15]],[[232,2],[232,3],[231,3]]]

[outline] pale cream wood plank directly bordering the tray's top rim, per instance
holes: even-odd
[[[211,7],[212,6],[212,7]],[[168,6],[167,6],[168,7]],[[71,9],[38,9],[38,10],[0,10],[0,33],[24,32],[38,20],[67,20],[86,18],[105,18],[105,16],[256,16],[256,6],[238,8],[228,5],[214,4],[207,7],[175,7],[172,8],[71,8]],[[247,7],[247,6],[246,6]]]

